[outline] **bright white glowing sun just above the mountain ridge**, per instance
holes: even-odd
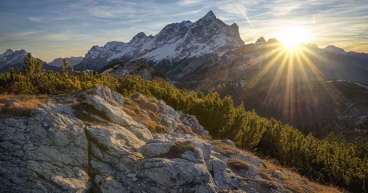
[[[276,38],[289,48],[296,48],[300,43],[308,38],[308,31],[302,26],[291,26],[283,29]]]

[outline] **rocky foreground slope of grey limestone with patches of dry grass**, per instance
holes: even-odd
[[[11,100],[7,107],[19,103]],[[133,103],[144,103],[135,109],[143,118],[128,108]],[[154,132],[150,120],[161,130]],[[103,86],[53,96],[26,116],[2,119],[0,149],[1,192],[290,192],[295,184],[318,189],[300,176],[267,169],[230,140],[211,139],[195,116],[162,100],[139,93],[124,98]]]

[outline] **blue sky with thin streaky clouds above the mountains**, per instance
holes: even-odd
[[[156,35],[209,10],[236,23],[246,44],[259,37],[282,42],[293,30],[302,43],[368,53],[367,0],[1,0],[0,54],[25,49],[46,62],[84,57],[93,45]]]

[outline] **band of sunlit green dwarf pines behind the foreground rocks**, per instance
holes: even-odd
[[[0,74],[0,93],[67,94],[86,91],[95,85],[129,96],[141,93],[164,100],[175,110],[195,115],[199,123],[215,139],[230,139],[239,149],[251,150],[260,157],[275,158],[280,164],[295,168],[301,174],[344,187],[352,192],[367,192],[368,144],[358,137],[347,143],[344,135],[329,133],[323,140],[303,135],[298,129],[273,118],[259,117],[245,111],[244,104],[234,107],[231,96],[223,99],[216,92],[177,89],[163,81],[148,81],[139,76],[114,78],[111,74],[74,72],[64,59],[61,72],[45,71],[42,60],[24,59],[23,69],[10,68]],[[246,103],[247,101],[244,101]],[[363,123],[362,128],[366,128]]]

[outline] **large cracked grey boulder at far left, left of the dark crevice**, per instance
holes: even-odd
[[[70,107],[39,107],[32,110],[32,117],[0,121],[0,190],[88,192],[83,122],[62,113],[72,112]]]

